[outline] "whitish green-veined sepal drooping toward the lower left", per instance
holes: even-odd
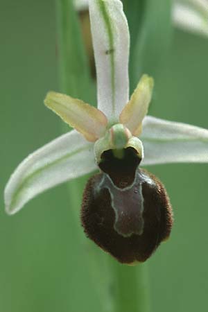
[[[93,146],[73,130],[26,157],[6,185],[6,212],[15,214],[46,189],[94,171]]]

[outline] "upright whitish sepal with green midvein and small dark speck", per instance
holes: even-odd
[[[130,36],[128,22],[119,0],[89,0],[98,109],[108,119],[118,122],[119,113],[128,102],[128,57]]]

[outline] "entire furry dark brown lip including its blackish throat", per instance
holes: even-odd
[[[121,263],[144,262],[168,239],[173,225],[164,185],[138,168],[140,159],[126,148],[123,159],[103,153],[103,171],[91,177],[83,195],[81,220],[86,235]]]

